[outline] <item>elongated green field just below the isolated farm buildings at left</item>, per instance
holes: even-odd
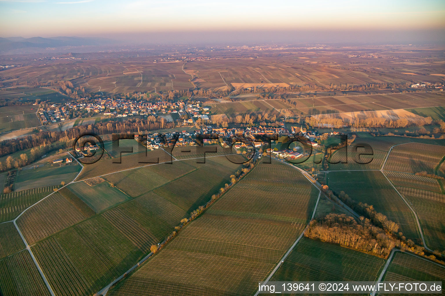
[[[15,190],[60,185],[61,182],[69,183],[76,178],[81,166],[77,162],[68,165],[45,165],[39,168],[19,170],[14,183]]]

